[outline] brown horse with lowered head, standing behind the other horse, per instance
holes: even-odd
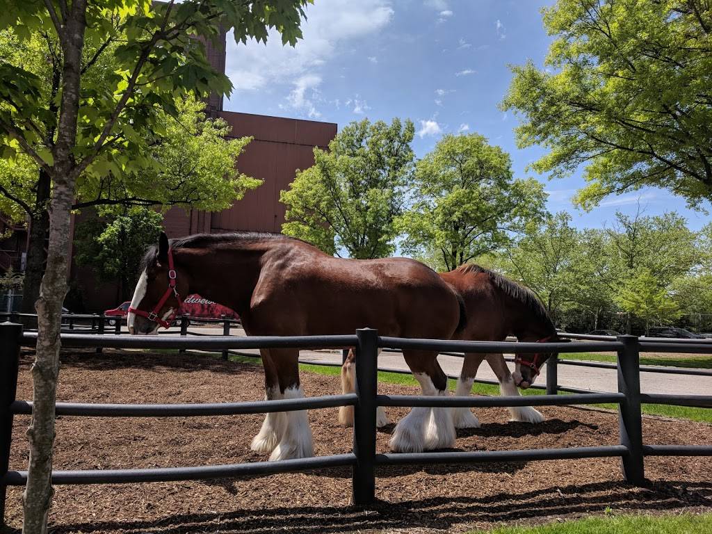
[[[525,342],[562,341],[557,336],[546,308],[527,288],[473,264],[461,266],[449,273],[440,273],[440,276],[460,293],[465,303],[466,324],[453,339],[503,341],[513,335]],[[515,372],[512,374],[502,354],[466,352],[455,394],[460,397],[470,394],[478,367],[483,360],[487,360],[497,375],[501,393],[518,395],[517,386],[528,388],[539,374],[540,366],[549,357],[547,353],[517,355]],[[342,367],[344,392],[353,390],[353,362],[353,353],[350,352]],[[543,415],[532,407],[511,407],[509,411],[512,421],[539,423],[544,420]],[[480,426],[468,408],[454,408],[453,419],[456,428]],[[339,420],[342,424],[350,425],[353,417],[350,412],[342,409]],[[388,424],[382,409],[379,409],[377,424]]]

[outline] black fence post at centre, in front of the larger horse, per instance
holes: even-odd
[[[356,330],[356,394],[354,409],[354,454],[352,501],[372,503],[376,496],[376,391],[378,330]]]

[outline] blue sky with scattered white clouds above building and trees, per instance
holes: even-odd
[[[566,210],[577,226],[609,224],[617,210],[645,214],[676,210],[692,229],[710,220],[658,189],[610,197],[585,213],[570,197],[580,173],[549,181],[526,172],[543,154],[519,150],[517,117],[498,110],[511,80],[510,64],[542,65],[550,43],[540,0],[315,0],[295,48],[278,36],[236,45],[228,39],[232,111],[337,122],[410,118],[418,157],[448,132],[478,132],[513,159],[515,176],[532,176],[550,193],[550,211]],[[710,206],[706,206],[710,207]]]

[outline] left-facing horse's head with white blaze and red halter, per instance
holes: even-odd
[[[187,295],[188,278],[174,265],[168,237],[161,232],[158,246],[144,258],[143,271],[136,284],[127,325],[132,334],[152,334],[159,326],[168,328]]]

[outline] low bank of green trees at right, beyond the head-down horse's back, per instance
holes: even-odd
[[[488,261],[532,288],[562,328],[600,328],[600,318],[621,311],[646,325],[666,324],[683,313],[712,312],[708,231],[690,231],[675,213],[618,213],[607,229],[577,230],[560,213],[530,225],[515,246]]]

